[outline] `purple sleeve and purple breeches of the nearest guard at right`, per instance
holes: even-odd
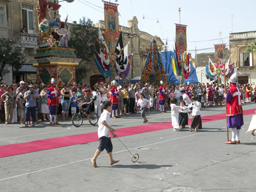
[[[232,95],[229,91],[227,91],[227,96],[225,97],[226,102],[230,102],[232,100]],[[234,128],[236,127],[237,130],[241,129],[241,126],[244,125],[244,118],[242,114],[227,116],[227,127]]]

